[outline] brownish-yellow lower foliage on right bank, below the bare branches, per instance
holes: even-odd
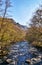
[[[42,47],[42,28],[30,27],[27,31],[26,39],[34,46]]]

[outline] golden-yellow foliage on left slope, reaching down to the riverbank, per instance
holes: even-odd
[[[2,23],[2,27],[1,27]],[[2,22],[2,18],[0,19],[0,48],[2,47],[9,47],[11,42],[18,42],[24,38],[25,33],[18,27],[13,20],[11,19],[4,19]],[[2,50],[3,55],[7,54],[6,49]],[[0,53],[2,55],[2,53]]]

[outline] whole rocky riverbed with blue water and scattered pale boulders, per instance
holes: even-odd
[[[42,52],[27,42],[11,45],[9,50],[10,52],[4,57],[4,61],[0,59],[0,65],[42,65]]]

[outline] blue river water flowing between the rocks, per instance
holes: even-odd
[[[11,45],[11,47],[9,48],[10,52],[8,54],[8,58],[12,59],[13,62],[11,64],[3,65],[28,65],[27,63],[25,63],[25,61],[26,59],[31,59],[33,57],[30,52],[30,49],[32,48],[34,47],[30,46],[27,42],[18,42],[14,45]],[[42,65],[42,62],[39,62],[35,65]]]

